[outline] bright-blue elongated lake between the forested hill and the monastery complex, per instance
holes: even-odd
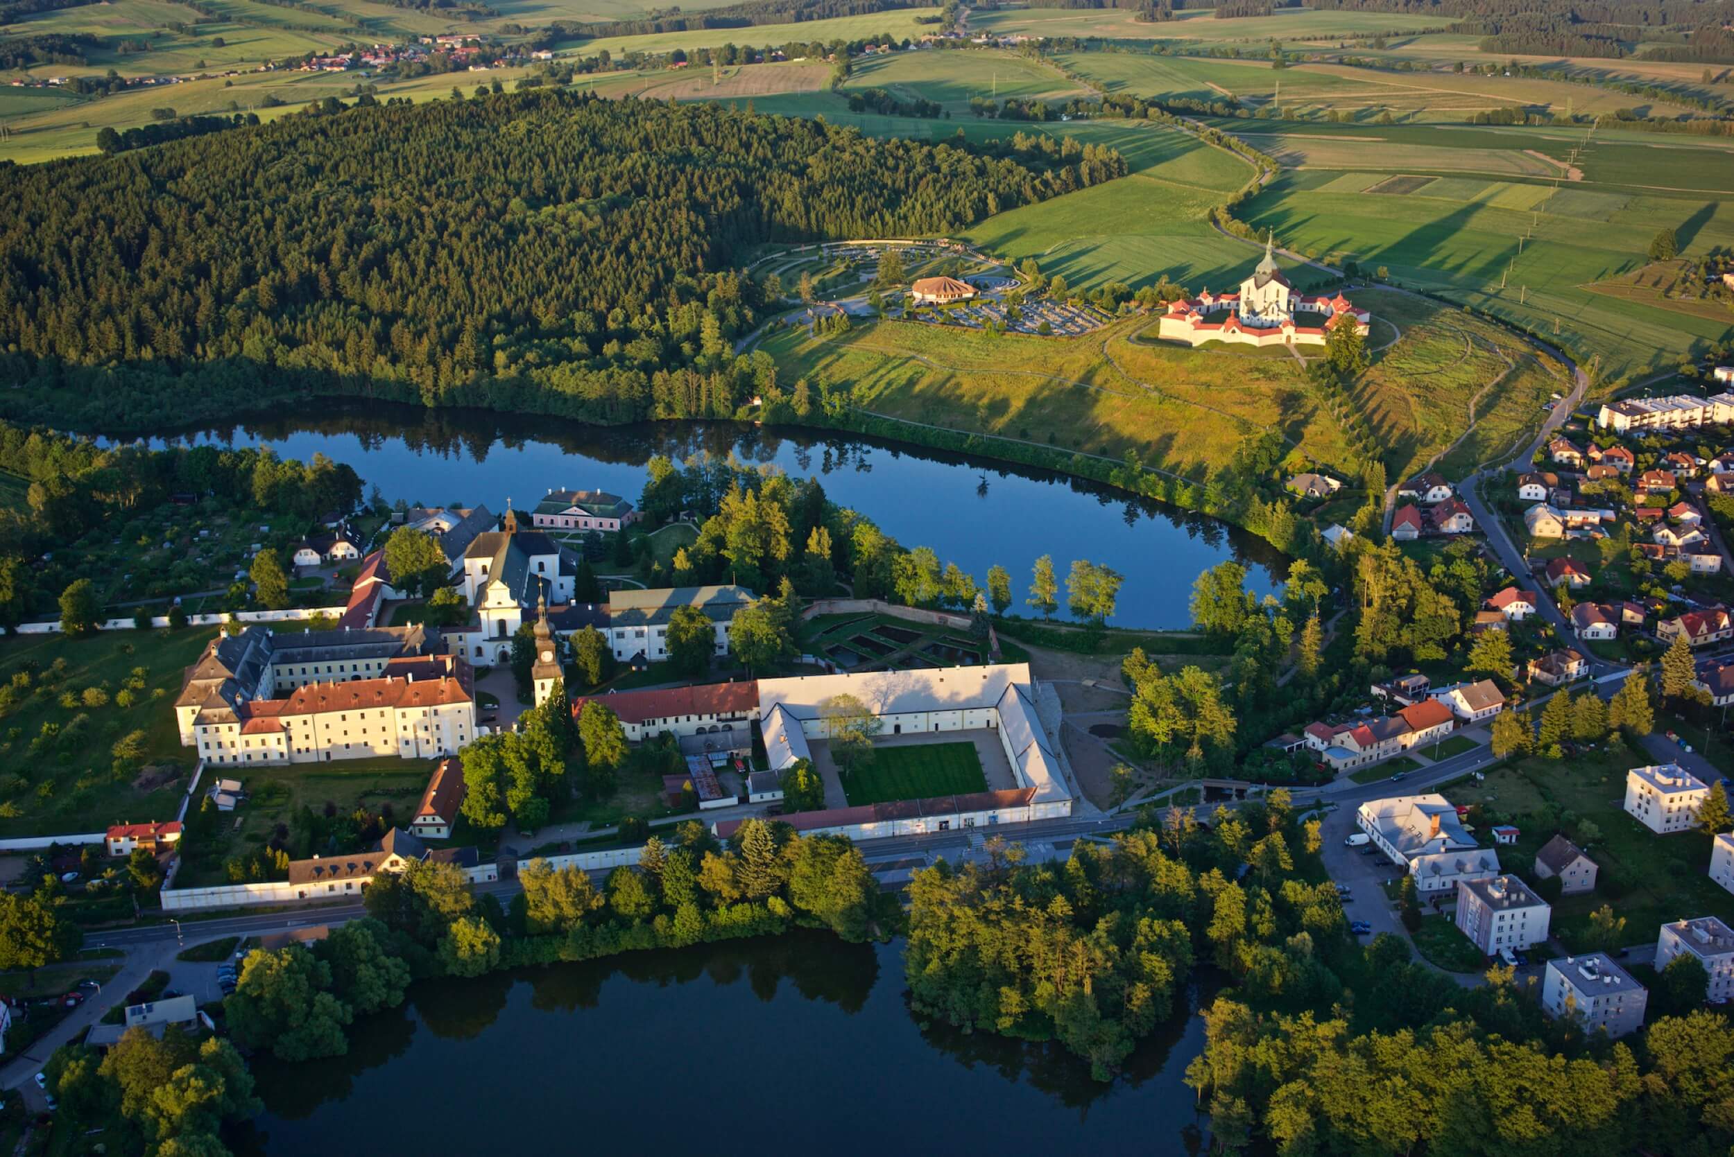
[[[1011,572],[1014,610],[1027,610],[1030,568],[1053,554],[1065,582],[1073,559],[1125,575],[1125,627],[1179,629],[1198,572],[1235,558],[1261,598],[1287,573],[1262,539],[1222,521],[1039,469],[909,449],[855,435],[763,431],[737,423],[586,426],[484,410],[369,404],[323,407],[224,426],[173,431],[153,443],[271,445],[283,457],[316,452],[349,462],[387,499],[427,506],[534,507],[555,488],[600,488],[636,501],[652,454],[735,454],[794,476],[817,476],[831,501],[870,516],[905,547],[929,546],[987,584]],[[1061,603],[1065,601],[1061,592]]]

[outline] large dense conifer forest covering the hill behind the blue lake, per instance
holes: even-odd
[[[335,104],[335,102],[331,102]],[[870,140],[532,88],[0,171],[14,416],[140,428],[310,393],[591,421],[733,414],[765,241],[947,234],[1108,149]]]

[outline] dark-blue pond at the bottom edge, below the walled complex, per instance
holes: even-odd
[[[922,1027],[902,940],[796,932],[418,984],[347,1057],[255,1058],[236,1152],[1196,1154],[1202,1046],[1176,1015],[1098,1083],[1058,1046]]]

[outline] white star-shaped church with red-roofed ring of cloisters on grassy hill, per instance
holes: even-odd
[[[1205,317],[1226,312],[1219,322]],[[1325,345],[1325,334],[1344,319],[1353,319],[1363,334],[1372,313],[1354,308],[1342,293],[1333,298],[1309,298],[1295,293],[1276,265],[1274,237],[1264,242],[1264,260],[1240,282],[1240,293],[1205,289],[1191,301],[1170,301],[1158,334],[1167,341],[1203,345],[1236,341],[1242,345]]]

